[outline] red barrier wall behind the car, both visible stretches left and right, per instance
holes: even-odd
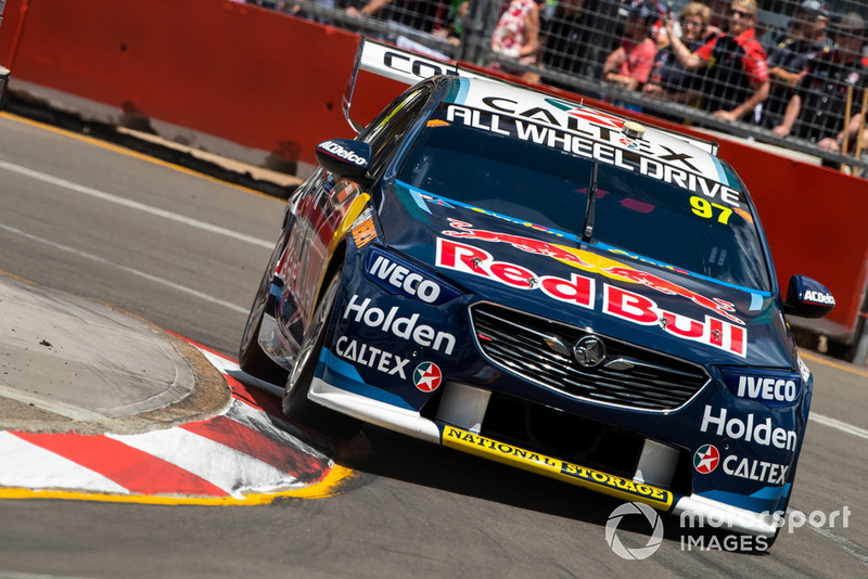
[[[229,0],[9,0],[4,17],[13,91],[51,89],[97,118],[139,114],[310,165],[316,143],[352,134],[341,111],[350,33]],[[398,90],[378,87],[359,86],[354,117]],[[868,283],[868,182],[735,141],[720,157],[756,201],[781,286],[793,273],[828,285],[838,306],[812,327],[850,342]]]

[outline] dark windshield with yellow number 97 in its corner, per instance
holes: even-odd
[[[593,162],[516,138],[520,123],[528,134],[523,120],[499,117],[495,131],[449,117],[442,105],[429,119],[400,165],[400,181],[582,239]],[[598,163],[596,197],[590,243],[768,291],[758,233],[743,202],[727,205],[607,163]]]

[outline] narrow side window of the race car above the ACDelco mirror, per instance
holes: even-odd
[[[420,87],[403,94],[380,113],[359,136],[361,141],[371,145],[372,175],[378,175],[392,159],[430,94],[430,87]]]

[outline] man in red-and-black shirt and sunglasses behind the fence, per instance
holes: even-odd
[[[719,34],[691,52],[673,36],[667,23],[673,54],[688,70],[705,67],[702,92],[705,110],[718,120],[732,121],[748,116],[756,123],[757,105],[768,97],[766,53],[756,40],[756,0],[732,0],[726,34]]]

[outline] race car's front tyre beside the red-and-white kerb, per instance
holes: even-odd
[[[311,402],[307,398],[320,352],[326,343],[326,335],[329,332],[329,321],[334,313],[340,287],[341,271],[339,270],[332,276],[326,293],[317,304],[310,327],[298,350],[298,358],[286,379],[286,389],[283,391],[283,413],[324,435],[345,440],[359,432],[361,422]]]

